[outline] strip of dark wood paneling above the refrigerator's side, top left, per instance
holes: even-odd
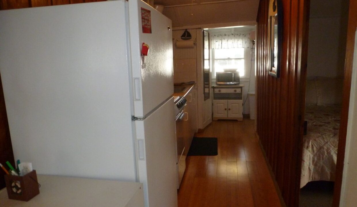
[[[0,0],[0,10],[20,9],[27,7],[51,6],[61,4],[77,4],[105,0]]]

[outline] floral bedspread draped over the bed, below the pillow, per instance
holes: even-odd
[[[338,105],[306,106],[300,188],[310,181],[335,181],[340,111]]]

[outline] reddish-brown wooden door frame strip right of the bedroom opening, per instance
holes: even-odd
[[[357,0],[350,0],[348,26],[347,26],[345,72],[344,72],[343,92],[342,92],[340,134],[338,137],[336,178],[335,178],[335,189],[333,191],[332,207],[340,206],[342,174],[343,174],[343,166],[344,166],[343,163],[345,161],[345,150],[346,150],[348,109],[350,106],[351,78],[352,78],[352,66],[353,66],[353,53],[355,49],[354,47],[355,47],[356,27],[357,27]]]

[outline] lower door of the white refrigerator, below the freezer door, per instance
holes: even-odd
[[[144,184],[145,206],[177,207],[174,99],[143,121],[135,121],[135,125],[139,182]]]

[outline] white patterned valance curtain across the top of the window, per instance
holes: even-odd
[[[231,31],[212,32],[210,34],[212,49],[227,49],[227,48],[249,48],[249,32]],[[206,48],[206,41],[205,41]],[[207,42],[208,48],[208,42]]]

